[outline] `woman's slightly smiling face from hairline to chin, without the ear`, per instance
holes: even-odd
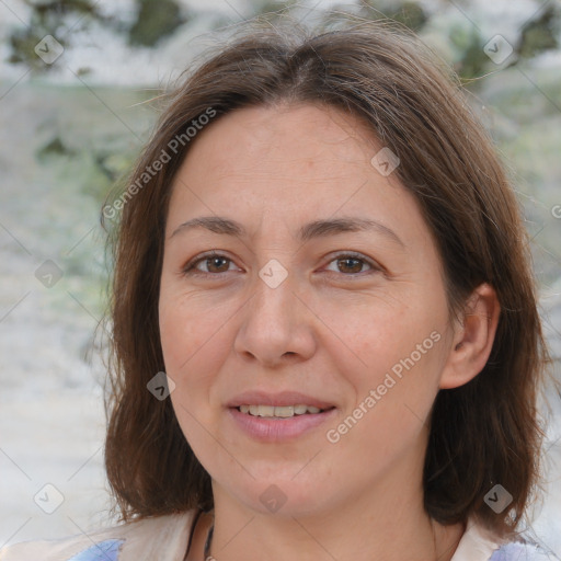
[[[373,164],[383,146],[360,123],[307,104],[239,110],[192,141],[167,220],[160,331],[215,501],[288,516],[421,493],[451,328],[396,162],[383,151]],[[328,411],[273,409],[299,404]]]

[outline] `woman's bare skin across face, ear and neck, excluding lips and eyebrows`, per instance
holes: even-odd
[[[428,420],[439,389],[483,368],[499,304],[481,285],[463,320],[450,319],[442,263],[415,199],[396,174],[370,163],[380,148],[333,107],[243,108],[199,133],[176,175],[161,343],[179,423],[213,480],[218,561],[446,561],[465,531],[423,508]],[[248,237],[202,228],[172,236],[208,215],[241,222]],[[403,245],[377,231],[296,238],[309,221],[343,216],[377,220]],[[210,250],[225,260],[198,262],[201,276],[183,273]],[[346,261],[348,251],[365,261]],[[276,288],[259,276],[272,259],[288,273]],[[327,431],[435,331],[439,341],[329,442]],[[316,396],[337,408],[335,420],[289,443],[255,442],[225,409],[251,389]],[[275,513],[260,501],[272,484],[286,497]],[[187,559],[203,559],[210,522],[197,525]]]

